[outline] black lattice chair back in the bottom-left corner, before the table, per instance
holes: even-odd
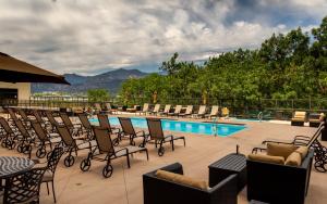
[[[33,168],[5,181],[3,203],[31,203],[38,200],[46,168]]]

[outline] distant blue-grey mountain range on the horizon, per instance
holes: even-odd
[[[107,89],[110,93],[117,93],[121,84],[129,78],[142,78],[148,73],[143,73],[138,69],[113,69],[95,76],[81,76],[77,74],[64,74],[69,85],[53,85],[53,84],[32,84],[32,92],[45,91],[61,91],[70,93],[86,92],[88,89]]]

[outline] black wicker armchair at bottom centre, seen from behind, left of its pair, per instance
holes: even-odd
[[[161,167],[158,170],[161,170],[161,173],[162,170],[173,173],[170,175],[173,175],[175,178],[181,178],[181,175],[184,175],[183,166],[180,163],[174,163]],[[143,175],[144,204],[238,203],[238,177],[235,174],[226,175],[226,178],[222,179],[220,182],[216,183],[213,188],[199,189],[196,187],[192,187],[191,183],[182,183],[178,180],[160,178],[157,176],[158,170],[153,170]],[[185,178],[184,182],[186,180],[194,181],[193,178]]]

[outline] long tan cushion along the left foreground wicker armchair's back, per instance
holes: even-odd
[[[177,183],[181,183],[181,184],[185,184],[185,186],[190,186],[190,187],[194,187],[201,190],[207,190],[208,189],[208,184],[206,181],[201,181],[201,180],[195,180],[191,177],[186,177],[184,175],[179,175],[179,174],[174,174],[174,173],[170,173],[167,170],[157,170],[156,176],[158,178],[165,179],[165,180],[169,180],[172,182],[177,182]]]

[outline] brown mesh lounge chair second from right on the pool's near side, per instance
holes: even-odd
[[[121,133],[119,136],[119,139],[121,140],[122,137],[129,137],[130,139],[130,144],[131,145],[135,145],[135,138],[143,138],[143,142],[140,145],[144,144],[144,140],[145,140],[145,131],[141,130],[141,131],[135,131],[132,120],[129,117],[118,117],[120,126],[121,126]]]

